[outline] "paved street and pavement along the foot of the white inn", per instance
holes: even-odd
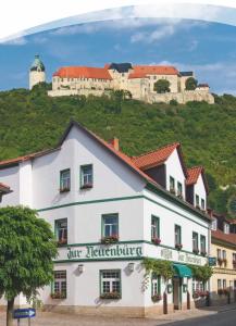
[[[236,309],[228,311],[196,310],[163,315],[159,318],[103,318],[92,316],[65,315],[55,313],[37,313],[32,319],[32,326],[235,326]],[[15,326],[17,325],[15,321]],[[21,326],[27,326],[27,319],[21,321]],[[5,326],[5,314],[0,312],[0,326]]]

